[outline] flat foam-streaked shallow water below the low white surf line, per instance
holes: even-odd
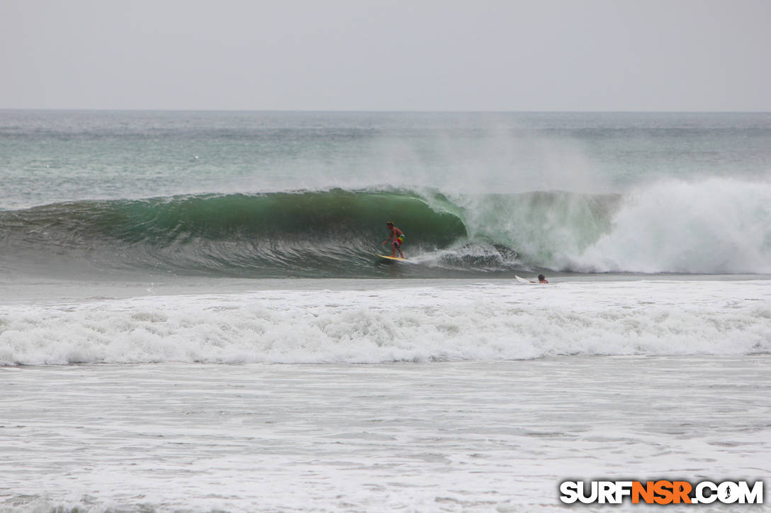
[[[768,355],[5,367],[0,381],[8,513],[566,511],[569,478],[771,475]]]

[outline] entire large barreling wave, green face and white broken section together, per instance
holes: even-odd
[[[417,265],[394,267],[385,221]],[[530,270],[771,272],[771,185],[625,194],[436,190],[204,194],[0,212],[0,270],[214,277],[462,277]]]

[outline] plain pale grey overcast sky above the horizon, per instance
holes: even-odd
[[[0,0],[0,108],[771,111],[771,0]]]

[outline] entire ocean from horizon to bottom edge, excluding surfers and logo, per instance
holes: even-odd
[[[0,174],[0,511],[769,496],[769,113],[0,110]]]

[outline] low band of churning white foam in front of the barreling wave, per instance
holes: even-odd
[[[15,304],[0,364],[381,363],[771,351],[771,281],[265,290]]]

